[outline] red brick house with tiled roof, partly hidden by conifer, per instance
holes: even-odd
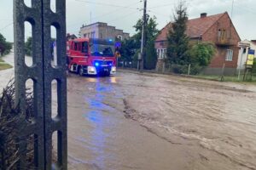
[[[170,26],[172,26],[171,23],[163,28],[155,41],[155,48],[158,54],[156,68],[158,70],[162,68],[166,57],[167,33]],[[220,74],[224,64],[225,74],[236,74],[239,54],[237,43],[241,39],[227,12],[211,16],[203,13],[200,18],[188,20],[186,34],[190,41],[213,42],[216,45],[217,52],[211,64],[205,69],[204,72],[206,74]]]

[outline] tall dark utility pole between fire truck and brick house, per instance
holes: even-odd
[[[145,37],[146,37],[146,27],[147,27],[147,0],[144,0],[144,8],[143,8],[143,31],[142,31],[142,47],[141,54],[139,59],[139,70],[144,69],[144,57],[145,57]]]

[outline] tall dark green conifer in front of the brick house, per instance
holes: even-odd
[[[178,4],[173,18],[167,36],[167,59],[170,64],[187,65],[189,64],[189,37],[186,35],[188,14],[182,1]]]

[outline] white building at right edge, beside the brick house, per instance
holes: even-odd
[[[246,62],[247,62],[247,56],[248,56],[249,50],[253,49],[256,51],[256,41],[255,40],[252,40],[252,41],[244,40],[241,42],[250,44],[249,48],[243,48],[243,49],[239,50],[239,55],[238,55],[238,60],[237,60],[237,69],[244,70]],[[255,56],[254,56],[254,58],[255,58]]]

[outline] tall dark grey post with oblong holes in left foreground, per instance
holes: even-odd
[[[35,136],[35,166],[52,169],[52,134],[58,133],[58,169],[67,169],[67,77],[66,77],[66,0],[56,0],[56,12],[50,9],[50,0],[32,0],[32,7],[14,0],[15,25],[15,102],[24,114],[26,81],[33,81],[34,113],[32,122],[24,122],[20,139]],[[25,21],[32,25],[32,66],[25,63]],[[50,26],[56,28],[57,64],[51,65]],[[58,113],[52,118],[51,84],[57,82]],[[20,142],[20,152],[26,143]],[[18,167],[26,169],[26,156],[21,156]]]

